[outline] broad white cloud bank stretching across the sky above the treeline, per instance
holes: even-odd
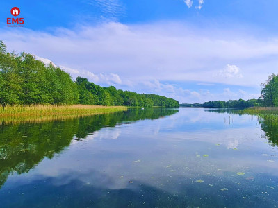
[[[239,30],[200,29],[184,22],[110,22],[71,30],[57,28],[53,33],[5,28],[0,33],[9,51],[45,57],[44,62],[62,66],[72,77],[83,76],[98,85],[141,93],[159,92],[181,102],[222,97],[210,92],[203,98],[199,89],[180,89],[173,83],[257,87],[259,93],[260,83],[278,67],[276,37],[262,39],[252,31],[248,35]],[[240,96],[235,93],[233,97]]]

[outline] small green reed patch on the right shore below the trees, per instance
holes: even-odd
[[[259,115],[263,119],[278,121],[278,107],[250,107],[242,110],[242,112]]]

